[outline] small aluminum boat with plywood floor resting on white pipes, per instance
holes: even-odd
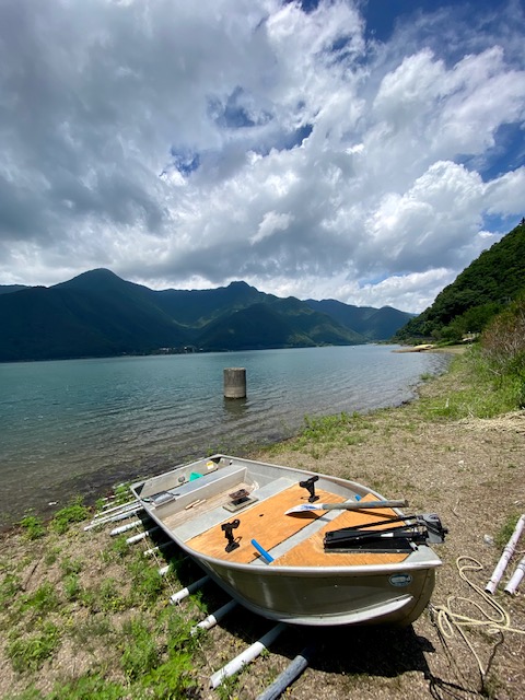
[[[272,620],[410,625],[441,564],[436,515],[338,477],[218,454],[131,491],[213,581]]]

